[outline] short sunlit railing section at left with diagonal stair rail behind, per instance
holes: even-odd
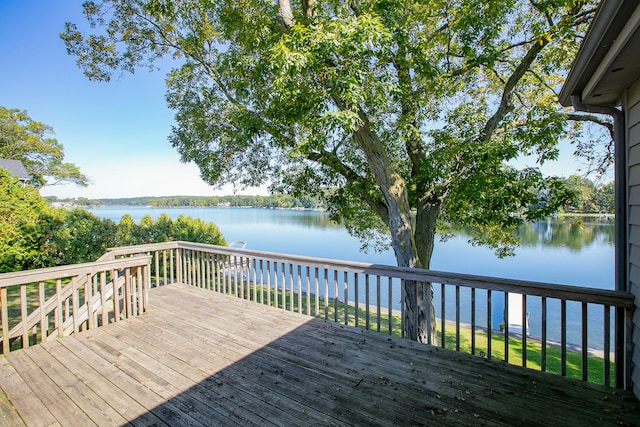
[[[149,256],[0,274],[2,352],[147,310]]]

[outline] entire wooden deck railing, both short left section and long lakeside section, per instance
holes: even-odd
[[[436,331],[430,344],[631,386],[634,301],[627,292],[188,242],[113,248],[95,263],[0,274],[2,351],[138,315],[149,286],[176,282],[398,336],[405,285],[424,286],[431,289],[425,309],[434,310],[426,316]]]

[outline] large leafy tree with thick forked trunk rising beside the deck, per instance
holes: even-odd
[[[555,92],[594,2],[105,0],[84,10],[91,29],[67,23],[62,37],[89,78],[178,61],[170,141],[205,180],[324,196],[351,232],[389,242],[400,266],[429,268],[439,220],[504,255],[522,218],[563,202],[537,166],[568,132]],[[520,155],[534,167],[515,168]],[[425,340],[428,284],[405,291],[405,332]]]

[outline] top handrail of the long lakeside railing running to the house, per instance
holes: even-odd
[[[258,251],[254,249],[230,248],[228,246],[209,245],[175,241],[153,243],[141,246],[111,248],[114,255],[131,255],[164,249],[187,249],[222,255],[246,256],[261,258],[273,262],[304,264],[310,267],[340,269],[351,273],[391,276],[403,280],[425,283],[442,283],[447,285],[472,286],[479,289],[495,290],[509,293],[565,299],[585,303],[598,303],[624,309],[634,308],[634,295],[631,292],[587,288],[575,285],[535,282],[529,280],[507,279],[493,276],[479,276],[464,273],[452,273],[420,268],[398,267],[383,264],[370,264],[358,261],[342,261],[328,258],[309,257],[304,255],[282,254],[277,252]]]

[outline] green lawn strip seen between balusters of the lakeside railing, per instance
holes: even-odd
[[[230,289],[231,294],[235,294],[234,289]],[[253,299],[254,288],[253,285],[248,288],[245,287],[245,297],[249,293],[249,298]],[[238,290],[238,295],[240,291]],[[277,296],[277,305],[276,305]],[[260,299],[260,289],[256,289],[256,299],[258,302],[267,303],[269,292],[266,286],[262,289],[262,299]],[[283,299],[284,297],[284,299]],[[308,302],[307,302],[308,300]],[[283,294],[281,290],[275,292],[272,288],[270,291],[271,306],[283,308],[285,310],[295,311],[302,314],[307,314],[313,317],[321,319],[327,319],[329,321],[335,321],[337,310],[337,322],[340,324],[346,324],[350,326],[357,326],[362,329],[367,329],[367,312],[364,308],[360,307],[356,310],[354,305],[349,305],[346,308],[341,302],[337,304],[333,300],[327,301],[328,306],[325,308],[324,299],[319,299],[313,296],[302,296],[302,305],[300,309],[300,299],[297,294],[294,294],[293,305],[291,305],[291,294],[286,292]],[[319,310],[316,312],[316,302],[318,303]],[[307,310],[307,307],[309,310]],[[325,313],[326,310],[326,313]],[[357,314],[357,324],[356,324]],[[371,307],[369,311],[368,329],[372,331],[379,331],[383,334],[389,334],[389,324],[391,324],[390,335],[400,337],[402,335],[402,322],[399,313],[391,313],[391,322],[389,322],[389,313],[384,311],[379,316],[380,328],[378,329],[378,314],[375,307]],[[442,330],[441,323],[437,322],[437,335],[438,346],[442,346]],[[459,351],[462,353],[475,354],[479,357],[491,358],[493,360],[505,360],[504,352],[504,334],[498,331],[492,331],[491,333],[491,354],[488,351],[488,334],[482,329],[476,329],[475,331],[475,348],[472,348],[472,329],[469,325],[460,326],[459,339]],[[444,331],[444,348],[449,350],[456,350],[456,327],[454,324],[445,323]],[[512,365],[523,366],[523,351],[522,351],[522,339],[510,336],[508,346],[508,363]],[[570,378],[582,379],[582,354],[577,351],[567,349],[566,351],[566,376]],[[533,338],[527,338],[526,340],[526,367],[534,370],[542,370],[542,343]],[[560,375],[562,373],[562,350],[560,347],[547,343],[546,345],[546,369],[547,372]],[[609,366],[610,378],[614,378],[614,363],[611,362]],[[604,384],[604,359],[597,356],[587,357],[587,381]]]

